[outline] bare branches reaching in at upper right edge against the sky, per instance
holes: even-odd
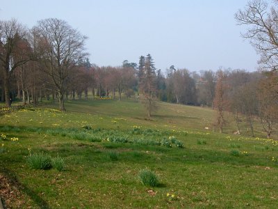
[[[278,70],[278,8],[277,1],[272,2],[269,6],[263,0],[250,1],[235,18],[238,24],[247,26],[243,37],[261,54],[262,68]]]

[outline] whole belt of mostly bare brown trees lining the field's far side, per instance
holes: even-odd
[[[1,102],[9,107],[14,100],[23,104],[58,100],[63,111],[65,100],[87,100],[89,91],[93,98],[121,100],[124,95],[142,100],[149,117],[156,100],[213,107],[220,132],[224,111],[234,115],[237,125],[244,115],[253,136],[254,118],[259,118],[270,137],[278,121],[277,17],[276,5],[269,8],[263,1],[250,2],[236,13],[239,24],[250,26],[245,38],[261,54],[256,72],[229,68],[191,72],[174,65],[163,72],[150,54],[139,54],[138,63],[124,60],[120,66],[97,66],[85,51],[87,37],[64,20],[40,20],[32,29],[17,20],[1,21]]]

